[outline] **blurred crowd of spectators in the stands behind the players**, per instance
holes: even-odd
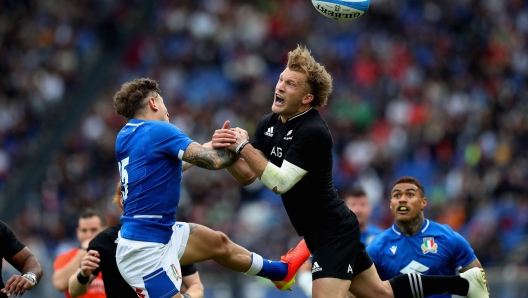
[[[90,1],[15,2],[0,1],[0,191],[104,30]],[[126,119],[112,96],[123,82],[157,79],[171,122],[197,142],[227,119],[251,136],[296,44],[333,75],[320,113],[333,135],[336,188],[362,185],[374,224],[392,224],[387,191],[411,175],[424,184],[426,216],[460,232],[484,266],[526,241],[526,1],[371,0],[364,16],[346,22],[301,0],[162,0],[149,14],[13,223],[51,257],[75,238],[81,209],[119,220],[110,198],[119,180],[115,136]],[[281,204],[258,181],[241,187],[226,171],[193,168],[178,220],[277,258],[299,240]]]

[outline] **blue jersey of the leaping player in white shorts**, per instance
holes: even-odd
[[[168,243],[180,201],[183,152],[193,142],[169,122],[132,119],[117,135],[125,213],[121,237]]]

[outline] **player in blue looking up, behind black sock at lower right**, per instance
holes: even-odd
[[[392,187],[390,209],[395,223],[367,247],[381,279],[400,274],[455,275],[482,268],[469,243],[448,225],[424,218],[424,188],[413,177]],[[435,295],[435,298],[451,295]]]

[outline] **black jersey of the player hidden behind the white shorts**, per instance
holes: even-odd
[[[105,285],[106,297],[108,298],[137,298],[138,295],[132,287],[127,284],[117,269],[115,260],[117,249],[117,233],[121,229],[122,224],[117,224],[107,228],[95,236],[90,244],[88,250],[97,250],[101,261],[99,267],[92,272],[92,275],[97,276],[99,271],[103,272],[103,282]],[[194,274],[196,267],[191,265],[181,266],[182,276]]]

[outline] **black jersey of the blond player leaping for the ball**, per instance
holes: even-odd
[[[317,110],[309,109],[286,123],[277,114],[265,115],[257,124],[251,144],[278,167],[287,160],[308,172],[282,194],[299,236],[320,239],[350,213],[334,187],[332,135]]]

